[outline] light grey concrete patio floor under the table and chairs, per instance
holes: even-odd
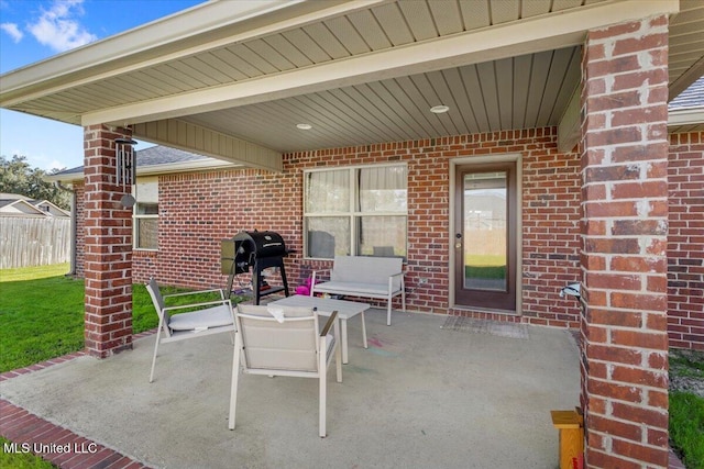
[[[327,438],[317,382],[301,378],[243,376],[228,429],[228,334],[164,345],[151,384],[154,335],[4,380],[0,394],[155,468],[558,467],[550,410],[573,409],[580,392],[569,331],[402,312],[389,327],[382,310],[366,326],[365,350],[350,320],[343,382],[329,376]]]

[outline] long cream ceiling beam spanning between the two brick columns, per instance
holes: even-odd
[[[99,110],[85,114],[81,124],[125,125],[158,121],[581,45],[588,30],[678,10],[679,0],[594,3],[559,14],[535,16],[251,80]]]

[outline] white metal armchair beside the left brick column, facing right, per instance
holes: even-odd
[[[152,372],[150,382],[154,381],[154,367],[156,366],[156,355],[160,344],[185,340],[188,338],[204,337],[206,335],[219,334],[222,332],[234,332],[234,315],[230,299],[224,298],[222,290],[201,290],[186,293],[175,293],[162,295],[156,280],[150,279],[146,290],[152,297],[154,309],[158,314],[158,328],[156,331],[156,343],[154,344],[154,357],[152,358]],[[166,306],[164,299],[174,297],[194,295],[197,293],[220,292],[220,300],[204,303],[180,304],[177,306]],[[169,314],[170,312],[184,309],[196,309],[196,311]]]

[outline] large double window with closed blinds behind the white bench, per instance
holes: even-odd
[[[304,174],[305,256],[406,257],[406,165]]]

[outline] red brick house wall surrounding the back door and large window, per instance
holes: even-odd
[[[573,300],[561,299],[558,289],[580,281],[579,265],[579,204],[580,163],[576,154],[558,154],[554,131],[512,132],[458,137],[470,143],[453,145],[452,149],[435,142],[408,142],[386,145],[384,152],[414,159],[414,174],[409,176],[408,297],[409,308],[418,311],[447,312],[448,245],[446,238],[424,238],[431,230],[448,230],[451,158],[484,155],[487,152],[522,154],[522,225],[524,280],[522,320],[518,316],[487,312],[453,311],[475,317],[504,321],[526,321],[532,324],[575,327],[579,322]],[[510,135],[510,138],[507,136]],[[431,145],[431,143],[433,145]],[[702,256],[704,246],[696,235],[702,230],[701,175],[704,168],[704,136],[701,133],[671,136],[670,145],[670,243],[669,255],[669,332],[670,345],[704,349],[704,282]],[[366,148],[364,148],[366,150]],[[433,149],[433,152],[429,152]],[[326,150],[320,155],[288,155],[283,175],[255,170],[211,171],[190,175],[169,175],[161,178],[162,198],[158,253],[134,252],[134,281],[145,282],[150,276],[160,280],[190,287],[222,287],[226,278],[220,272],[220,239],[231,237],[240,230],[274,230],[284,235],[288,247],[298,254],[286,260],[289,284],[295,288],[308,271],[327,263],[302,260],[302,176],[301,169],[324,165],[352,165],[352,154],[344,160],[331,161],[344,152],[364,155],[356,148]],[[419,154],[427,153],[422,159]],[[442,153],[447,157],[442,157]],[[396,157],[396,156],[394,156]],[[386,156],[385,160],[388,160]],[[697,179],[697,177],[700,179]],[[430,180],[432,182],[430,182]],[[275,187],[272,185],[276,185]],[[689,186],[688,186],[689,185]],[[698,185],[698,186],[697,186]],[[284,200],[284,188],[290,200]],[[696,189],[700,192],[696,192]],[[77,272],[84,275],[84,186],[76,185],[77,206]],[[277,199],[273,191],[280,192]],[[436,193],[436,191],[438,191]],[[684,192],[682,192],[684,191]],[[255,209],[260,200],[262,210]],[[433,200],[436,201],[433,203]],[[698,208],[698,209],[697,209]],[[698,210],[698,212],[697,212]],[[266,214],[271,212],[276,215]],[[194,215],[196,213],[196,215]],[[208,216],[204,216],[208,214]],[[283,216],[282,216],[283,215]],[[433,219],[435,217],[435,219]],[[206,220],[208,219],[208,220]],[[682,219],[682,220],[680,220]],[[698,230],[698,232],[697,232]],[[680,232],[682,232],[680,234]],[[188,255],[179,243],[194,246],[198,257]],[[693,244],[698,243],[698,246]],[[698,257],[697,257],[698,255]],[[180,267],[179,267],[180,266]],[[187,266],[187,268],[183,268]],[[418,284],[419,277],[431,278],[429,284]],[[439,290],[440,289],[440,290]],[[443,298],[444,297],[444,298]],[[686,335],[686,338],[685,338]]]

